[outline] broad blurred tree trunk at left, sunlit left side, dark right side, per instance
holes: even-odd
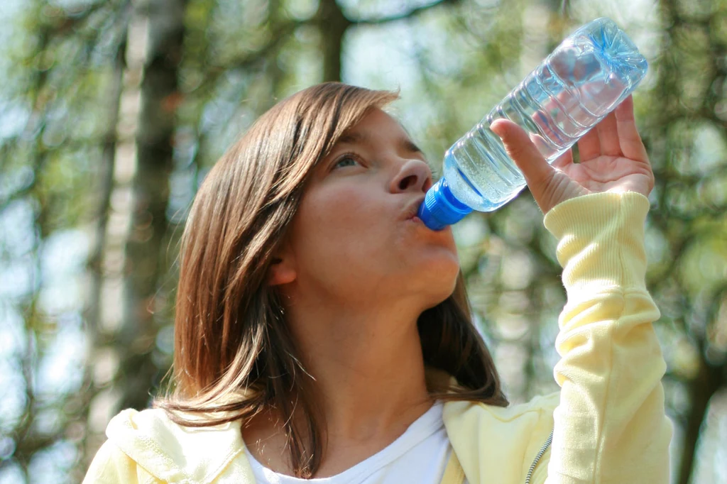
[[[133,4],[129,19],[103,280],[94,295],[101,298],[97,320],[103,335],[94,350],[94,379],[103,390],[89,411],[90,456],[113,415],[148,406],[159,371],[151,358],[158,332],[153,312],[164,273],[184,13],[183,0],[150,0]]]

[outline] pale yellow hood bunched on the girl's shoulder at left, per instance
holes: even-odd
[[[237,420],[214,427],[182,427],[161,408],[127,408],[111,419],[106,436],[159,480],[206,484],[232,461],[248,471],[242,475],[252,475],[240,425]]]

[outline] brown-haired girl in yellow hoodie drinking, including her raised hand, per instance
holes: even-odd
[[[492,129],[558,238],[559,392],[508,406],[432,175],[391,92],[321,84],[261,116],[182,237],[174,390],[106,431],[85,483],[666,483],[646,291],[654,176],[629,99],[555,167]]]

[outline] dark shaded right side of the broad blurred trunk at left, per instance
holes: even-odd
[[[116,344],[121,350],[119,406],[141,410],[158,369],[151,360],[156,342],[155,293],[164,267],[162,241],[172,172],[174,122],[180,93],[177,70],[182,58],[184,0],[150,0],[137,6],[145,16],[147,44],[141,72],[141,105],[136,132],[136,172],[132,179],[131,219],[124,254],[124,307]]]

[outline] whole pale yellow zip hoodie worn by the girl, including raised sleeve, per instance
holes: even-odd
[[[638,193],[597,193],[550,210],[568,302],[558,321],[560,392],[499,408],[448,402],[443,419],[470,484],[667,483],[666,368],[646,291]],[[179,427],[157,409],[121,411],[84,484],[253,484],[240,422]]]

